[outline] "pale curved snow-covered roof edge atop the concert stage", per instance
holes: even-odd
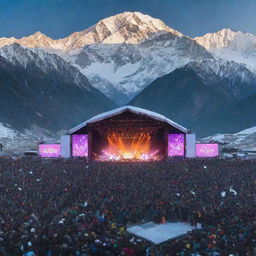
[[[130,106],[130,105],[127,105],[127,106],[123,106],[123,107],[120,107],[120,108],[116,108],[116,109],[113,109],[113,110],[110,110],[110,111],[107,111],[107,112],[104,112],[104,113],[101,113],[101,114],[98,114],[90,119],[88,119],[87,121],[77,125],[76,127],[70,129],[69,131],[67,131],[67,134],[72,134],[72,133],[75,133],[77,132],[78,130],[80,130],[81,128],[85,127],[87,124],[91,124],[91,123],[96,123],[96,122],[99,122],[99,121],[102,121],[106,118],[109,118],[111,116],[116,116],[116,115],[119,115],[125,111],[130,111],[132,113],[135,113],[137,115],[142,115],[142,116],[146,116],[146,117],[150,117],[152,119],[155,119],[155,120],[158,120],[158,121],[161,121],[161,122],[164,122],[164,123],[168,123],[169,125],[177,128],[178,130],[184,132],[184,133],[189,133],[189,130],[186,129],[185,127],[173,122],[172,120],[170,120],[169,118],[161,115],[161,114],[158,114],[156,112],[153,112],[153,111],[150,111],[150,110],[146,110],[146,109],[143,109],[143,108],[138,108],[138,107],[134,107],[134,106]]]

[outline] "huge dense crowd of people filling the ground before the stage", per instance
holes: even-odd
[[[0,158],[0,255],[255,256],[256,162]],[[127,232],[202,228],[159,246]]]

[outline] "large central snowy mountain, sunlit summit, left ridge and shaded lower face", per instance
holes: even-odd
[[[2,46],[14,42],[58,54],[119,103],[127,102],[157,77],[190,61],[213,58],[194,40],[139,12],[103,19],[59,40],[40,32],[21,39],[0,39]]]

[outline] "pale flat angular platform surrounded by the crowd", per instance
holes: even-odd
[[[197,225],[197,228],[201,228],[201,225]],[[168,222],[166,224],[148,222],[130,227],[127,231],[130,234],[146,239],[153,244],[161,244],[170,239],[185,235],[187,232],[194,229],[196,229],[196,227],[185,222]]]

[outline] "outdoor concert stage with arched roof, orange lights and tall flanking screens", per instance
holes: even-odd
[[[94,161],[195,157],[195,135],[163,115],[124,106],[69,130],[61,137],[60,155]]]

